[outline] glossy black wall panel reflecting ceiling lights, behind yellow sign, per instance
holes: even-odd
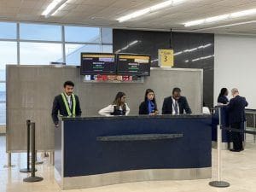
[[[171,44],[170,44],[171,43]],[[158,49],[174,49],[174,67],[204,69],[204,102],[213,106],[214,34],[113,30],[113,52],[151,55],[158,67]]]

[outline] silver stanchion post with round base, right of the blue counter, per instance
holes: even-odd
[[[218,126],[217,126],[217,181],[212,181],[209,183],[212,187],[218,187],[218,188],[226,188],[230,187],[230,183],[224,182],[221,180],[221,167],[222,167],[222,161],[221,161],[221,149],[222,149],[222,121],[221,121],[221,108],[218,108]]]

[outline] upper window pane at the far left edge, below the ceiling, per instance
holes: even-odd
[[[17,38],[16,23],[0,22],[0,38]]]

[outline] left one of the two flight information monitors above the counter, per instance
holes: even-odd
[[[81,53],[81,75],[115,74],[115,55],[99,53]]]

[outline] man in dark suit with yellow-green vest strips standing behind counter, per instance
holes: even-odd
[[[55,96],[55,100],[53,102],[51,117],[55,126],[59,125],[58,112],[65,117],[80,116],[82,113],[79,104],[79,97],[73,94],[73,82],[66,81],[63,87],[64,92]]]

